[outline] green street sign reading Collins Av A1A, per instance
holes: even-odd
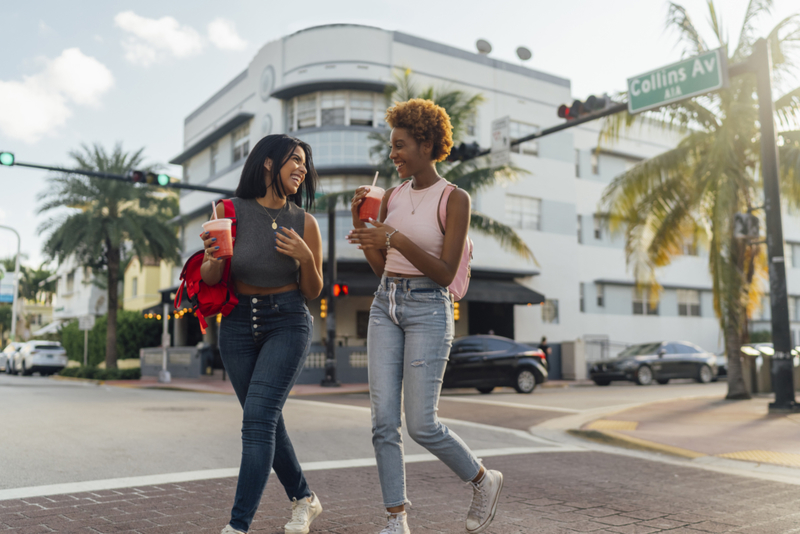
[[[628,112],[640,113],[728,85],[728,55],[717,48],[628,78]]]

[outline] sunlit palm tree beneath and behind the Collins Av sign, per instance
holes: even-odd
[[[747,58],[756,41],[756,23],[772,0],[751,0],[735,48],[713,0],[709,20],[718,46],[733,50],[735,64]],[[677,30],[684,56],[709,48],[682,6],[670,3],[667,27]],[[775,79],[785,84],[796,71],[789,57],[800,43],[800,19],[792,15],[769,33]],[[618,114],[606,120],[601,140],[615,140],[634,123],[656,122],[682,134],[678,145],[642,161],[615,178],[601,201],[612,227],[625,234],[627,262],[637,284],[660,290],[656,271],[682,253],[687,240],[699,240],[709,252],[714,311],[728,355],[728,399],[749,398],[741,365],[741,346],[748,339],[748,316],[760,304],[767,278],[763,250],[734,235],[734,215],[762,205],[760,129],[754,74],[730,80],[713,94],[665,106],[637,116]],[[775,102],[780,126],[781,187],[792,206],[800,206],[800,88]]]

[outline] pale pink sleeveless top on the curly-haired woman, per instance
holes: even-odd
[[[432,186],[419,190],[407,184],[386,206],[384,224],[397,228],[400,233],[435,258],[441,257],[444,245],[444,234],[439,229],[439,200],[447,183],[447,180],[440,178]],[[386,254],[385,270],[406,275],[422,274],[405,256],[393,248]]]

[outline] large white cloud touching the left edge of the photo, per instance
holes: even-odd
[[[0,131],[13,139],[35,143],[62,126],[72,105],[98,106],[114,85],[108,68],[77,48],[47,60],[41,72],[22,81],[0,80]]]

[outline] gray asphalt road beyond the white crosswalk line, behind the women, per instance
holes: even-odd
[[[696,395],[725,384],[450,391],[440,417],[478,451],[553,447],[525,432],[568,415]],[[292,398],[284,414],[303,462],[373,457],[367,395]],[[236,468],[241,409],[233,396],[0,375],[0,490]],[[425,451],[406,437],[408,455]]]

